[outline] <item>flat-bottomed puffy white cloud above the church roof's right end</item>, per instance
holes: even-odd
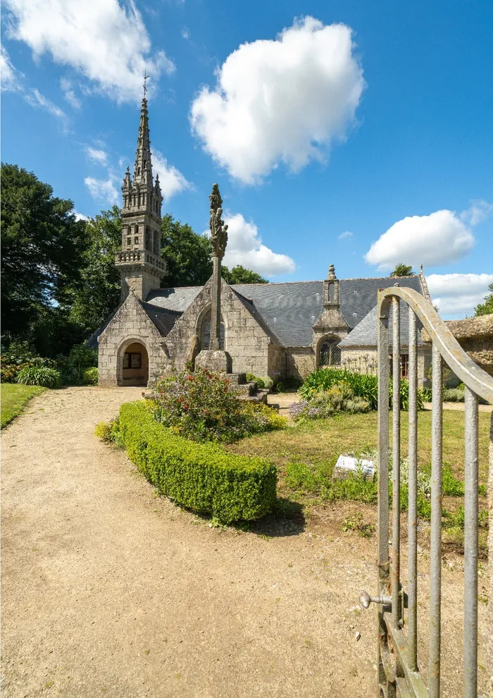
[[[395,264],[445,264],[465,257],[475,243],[473,234],[452,211],[429,216],[407,216],[394,223],[371,245],[366,262],[378,269]]]

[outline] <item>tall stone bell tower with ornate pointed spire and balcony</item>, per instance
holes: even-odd
[[[139,300],[146,300],[149,291],[159,288],[161,278],[166,274],[166,262],[161,259],[163,197],[158,175],[154,183],[152,177],[145,80],[146,75],[134,176],[130,178],[130,168],[127,167],[122,186],[122,247],[115,255],[122,279],[122,302],[130,289]]]

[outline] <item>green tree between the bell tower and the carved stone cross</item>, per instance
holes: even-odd
[[[171,214],[161,221],[161,256],[166,259],[162,288],[203,286],[212,274],[212,245],[205,235],[195,233],[188,224]]]

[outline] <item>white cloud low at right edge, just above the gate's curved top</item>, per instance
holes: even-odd
[[[472,315],[488,293],[493,274],[430,274],[426,277],[432,301],[441,314]]]

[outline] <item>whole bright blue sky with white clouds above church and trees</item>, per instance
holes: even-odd
[[[464,317],[493,282],[492,26],[487,0],[5,0],[2,160],[120,203],[145,66],[165,209],[206,230],[217,181],[228,264],[423,262]]]

